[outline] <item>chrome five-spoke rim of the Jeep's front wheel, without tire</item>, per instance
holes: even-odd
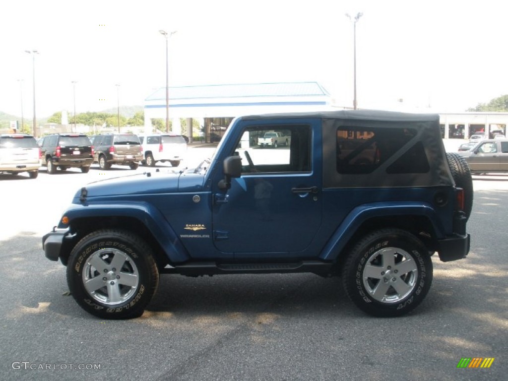
[[[93,299],[114,306],[125,302],[136,293],[139,272],[134,261],[123,251],[104,248],[88,257],[82,280]]]

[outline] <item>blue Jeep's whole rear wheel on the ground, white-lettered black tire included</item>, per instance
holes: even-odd
[[[382,229],[363,237],[342,268],[347,296],[373,316],[403,315],[418,306],[432,283],[428,249],[414,235]]]

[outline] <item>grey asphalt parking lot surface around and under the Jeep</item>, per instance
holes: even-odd
[[[182,166],[212,150],[193,148]],[[101,321],[68,295],[65,267],[44,257],[41,237],[80,186],[144,171],[0,179],[0,379],[506,379],[508,174],[474,176],[469,256],[433,257],[430,292],[407,316],[365,315],[337,278],[163,275],[142,317]],[[457,368],[462,358],[494,361]]]

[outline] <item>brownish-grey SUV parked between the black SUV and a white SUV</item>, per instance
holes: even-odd
[[[101,169],[109,169],[112,164],[128,165],[136,169],[143,160],[139,137],[134,134],[101,134],[90,138],[93,144],[93,161]]]

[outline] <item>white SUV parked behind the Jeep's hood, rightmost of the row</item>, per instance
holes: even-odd
[[[143,147],[143,164],[153,167],[156,162],[170,162],[178,167],[187,152],[183,136],[174,134],[139,135]]]

